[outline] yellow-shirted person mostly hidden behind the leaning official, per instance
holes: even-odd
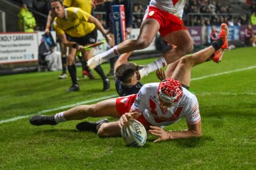
[[[86,11],[87,13],[90,13],[91,15],[94,16],[94,13],[92,11],[92,0],[64,0],[63,5],[65,7],[79,7],[83,11]],[[50,31],[51,24],[53,23],[53,19],[55,18],[54,13],[51,11],[51,4],[49,4],[48,6],[49,6],[49,13],[48,13],[44,33],[47,33]],[[62,73],[59,76],[59,79],[65,79],[67,78],[67,48],[64,46],[63,43],[59,43],[59,44],[61,47],[61,61],[62,61]],[[83,76],[88,75],[90,79],[93,79],[94,76],[88,69],[85,59],[82,60],[82,58],[79,57],[79,60],[82,62]]]

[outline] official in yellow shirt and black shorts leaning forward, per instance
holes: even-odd
[[[67,68],[72,79],[72,86],[67,91],[78,91],[76,69],[75,69],[75,53],[76,50],[82,51],[84,57],[88,60],[92,57],[93,50],[84,50],[84,45],[94,44],[97,40],[97,30],[103,34],[108,44],[112,41],[106,33],[98,19],[82,11],[77,7],[64,8],[62,0],[51,0],[51,8],[56,16],[54,28],[57,36],[65,46],[69,46],[69,54],[67,59]],[[107,79],[102,68],[96,67],[95,71],[103,80],[103,90],[110,89],[110,81]]]

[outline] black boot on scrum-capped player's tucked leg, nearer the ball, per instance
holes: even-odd
[[[76,125],[76,129],[79,131],[92,131],[97,132],[101,124],[108,123],[107,119],[98,120],[97,122],[80,122]]]

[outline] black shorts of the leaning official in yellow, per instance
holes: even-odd
[[[66,34],[67,40],[76,42],[82,46],[88,45],[88,44],[94,44],[97,42],[97,29],[94,29],[91,33],[87,34],[86,36],[82,37],[72,37]]]

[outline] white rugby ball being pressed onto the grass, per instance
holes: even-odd
[[[147,140],[147,131],[143,124],[133,119],[122,126],[121,135],[129,146],[143,146]]]

